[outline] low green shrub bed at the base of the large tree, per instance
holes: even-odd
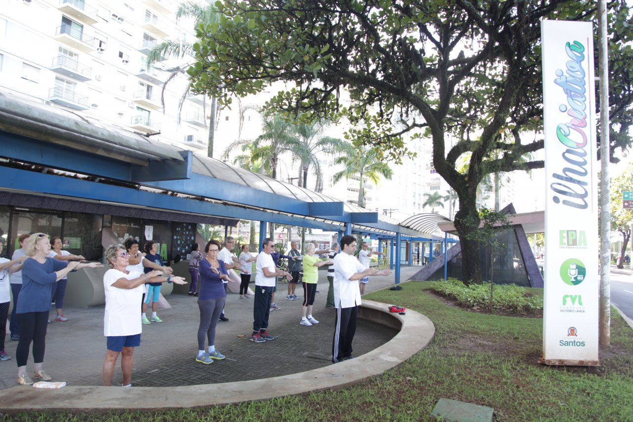
[[[490,283],[467,286],[460,280],[451,278],[447,281],[436,281],[432,283],[431,288],[463,307],[487,308],[490,303]],[[527,288],[517,285],[495,285],[494,290],[494,309],[518,313],[543,308],[542,297],[533,295]]]

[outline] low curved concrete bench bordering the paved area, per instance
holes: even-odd
[[[392,314],[387,307],[380,302],[363,300],[359,316],[399,329],[398,334],[384,345],[351,361],[274,378],[185,387],[67,386],[60,390],[39,390],[18,386],[0,392],[0,409],[15,413],[199,407],[301,395],[353,385],[404,362],[425,348],[435,335],[435,327],[429,318],[412,310],[407,310],[406,315]]]

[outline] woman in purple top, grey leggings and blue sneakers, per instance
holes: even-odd
[[[229,279],[229,272],[224,262],[218,259],[220,243],[210,240],[204,247],[206,257],[200,261],[200,285],[198,286],[198,307],[200,308],[200,325],[198,327],[198,353],[196,362],[213,363],[213,359],[222,360],[222,355],[215,348],[215,327],[222,314],[227,292],[223,280]],[[204,350],[204,338],[209,341],[208,351]]]

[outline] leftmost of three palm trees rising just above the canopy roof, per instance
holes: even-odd
[[[249,150],[253,160],[259,160],[265,174],[277,179],[279,155],[284,151],[299,150],[301,144],[292,134],[292,125],[281,115],[264,115],[261,122],[261,134],[254,141],[238,139],[227,146],[222,160],[228,160],[236,148]]]

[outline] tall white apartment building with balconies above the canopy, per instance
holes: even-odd
[[[146,63],[166,39],[195,39],[191,20],[175,20],[178,3],[0,3],[0,91],[206,155],[208,99],[189,95],[179,107],[188,84],[180,70],[193,58]]]

